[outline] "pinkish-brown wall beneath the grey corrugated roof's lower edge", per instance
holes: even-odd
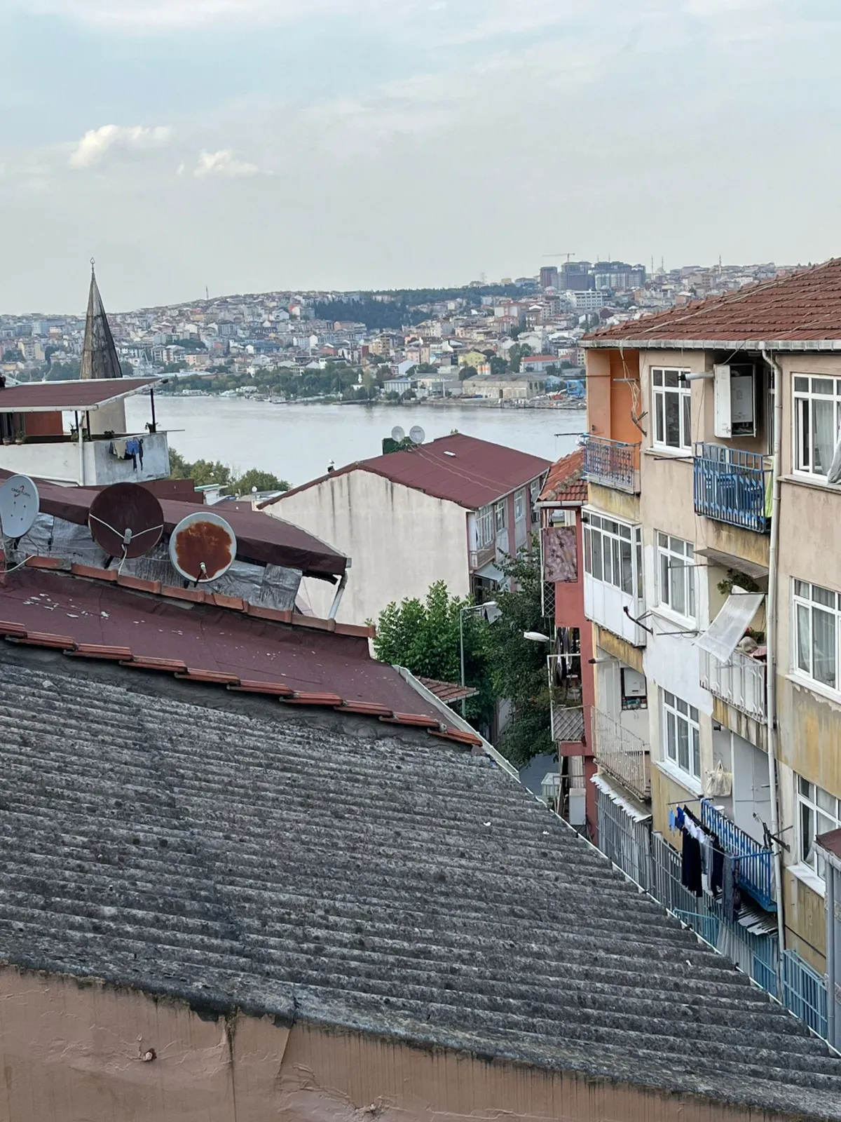
[[[0,971],[3,1122],[784,1122],[361,1032]]]

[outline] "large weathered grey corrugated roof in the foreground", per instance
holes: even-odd
[[[3,958],[841,1119],[841,1061],[486,757],[50,660],[0,652]]]

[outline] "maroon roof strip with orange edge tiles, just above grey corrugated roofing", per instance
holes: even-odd
[[[241,600],[219,606],[212,594],[203,594],[204,603],[185,611],[176,599],[182,591],[194,599],[193,590],[141,595],[132,587],[151,582],[130,585],[124,578],[114,580],[110,571],[75,568],[68,573],[26,567],[7,576],[0,586],[0,636],[481,744],[474,734],[449,724],[392,666],[371,659],[363,628],[299,617],[284,623],[275,617],[285,613],[256,611],[249,605],[246,614]],[[104,579],[86,579],[98,572]]]

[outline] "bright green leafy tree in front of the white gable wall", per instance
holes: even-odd
[[[380,662],[405,666],[413,674],[442,682],[461,681],[459,617],[470,600],[450,596],[446,582],[436,581],[426,599],[389,604],[377,622],[373,650]],[[468,699],[472,724],[487,726],[493,716],[493,690],[484,655],[484,629],[489,625],[475,613],[464,616],[464,679],[479,689]]]

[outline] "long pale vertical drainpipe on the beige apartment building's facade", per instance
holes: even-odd
[[[783,914],[783,847],[779,844],[779,807],[777,791],[777,564],[779,548],[779,458],[783,444],[783,370],[777,360],[761,348],[763,359],[774,371],[774,456],[771,460],[771,537],[768,551],[768,598],[766,607],[766,683],[765,701],[768,712],[768,787],[771,804],[774,835],[774,880],[777,904],[777,997],[783,995],[783,951],[785,950],[785,917]]]

